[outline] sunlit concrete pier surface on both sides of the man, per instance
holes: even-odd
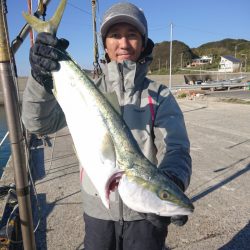
[[[177,250],[249,249],[250,105],[208,96],[178,102],[191,141],[193,175],[187,194],[195,212],[185,226],[170,225],[166,244]],[[37,249],[83,249],[79,169],[72,140],[67,128],[49,137],[47,145],[33,145],[41,207]]]

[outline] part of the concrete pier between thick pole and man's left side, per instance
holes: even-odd
[[[41,141],[34,141],[33,145],[33,176],[41,208],[37,246],[38,249],[82,249],[79,164],[72,139],[67,128],[49,138],[44,141],[46,145],[41,145]],[[33,204],[38,212],[35,199]]]

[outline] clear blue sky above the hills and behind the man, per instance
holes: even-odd
[[[34,10],[37,2],[33,0]],[[59,2],[60,0],[51,0],[46,19],[52,16]],[[99,30],[104,11],[119,1],[98,2]],[[250,40],[249,0],[131,0],[130,2],[144,10],[148,20],[149,37],[154,42],[170,40],[170,23],[173,23],[173,40],[182,41],[191,48],[225,38]],[[27,11],[27,0],[7,0],[7,5],[8,29],[12,41],[25,24],[22,11]],[[79,65],[92,69],[91,0],[68,0],[57,36],[70,41],[68,51]],[[15,55],[19,76],[28,75],[30,72],[29,47],[30,41],[27,37]],[[99,53],[103,56],[101,46]]]

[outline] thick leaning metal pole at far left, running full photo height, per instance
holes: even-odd
[[[19,206],[19,215],[22,230],[23,246],[25,250],[36,249],[33,232],[33,219],[31,212],[30,190],[26,169],[24,152],[24,136],[20,112],[17,101],[17,92],[14,84],[13,70],[11,68],[11,55],[9,47],[8,27],[6,20],[7,8],[4,1],[0,1],[0,82],[3,89],[6,119],[9,129],[14,178]]]

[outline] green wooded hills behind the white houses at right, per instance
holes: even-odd
[[[170,42],[156,43],[153,50],[153,62],[150,70],[155,73],[166,73],[169,71]],[[177,72],[182,66],[191,63],[192,59],[207,55],[213,57],[213,64],[206,69],[218,69],[220,56],[232,55],[250,66],[250,41],[244,39],[223,39],[221,41],[202,44],[197,48],[190,48],[183,42],[174,40],[172,42],[172,71]],[[167,65],[166,65],[167,64]],[[182,64],[182,65],[181,65]],[[167,69],[167,71],[166,71]]]

